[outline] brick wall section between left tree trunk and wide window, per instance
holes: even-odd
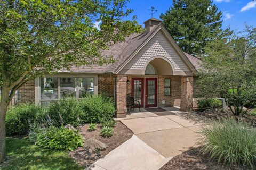
[[[35,80],[26,82],[18,89],[18,102],[35,103]]]

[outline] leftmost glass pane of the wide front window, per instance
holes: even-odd
[[[58,78],[41,78],[41,100],[58,99]]]

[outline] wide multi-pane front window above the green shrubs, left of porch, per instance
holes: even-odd
[[[50,101],[65,97],[82,98],[94,94],[94,77],[45,77],[40,79],[40,103],[47,105]]]

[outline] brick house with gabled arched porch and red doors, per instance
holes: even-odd
[[[144,108],[179,106],[189,111],[195,104],[200,61],[182,52],[160,20],[150,18],[145,29],[103,52],[114,56],[114,64],[73,67],[72,72],[36,78],[18,90],[18,101],[45,105],[91,93],[113,97],[116,117],[126,116],[126,96]]]

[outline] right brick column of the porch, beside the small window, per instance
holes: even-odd
[[[180,109],[191,111],[193,108],[193,77],[181,77]]]

